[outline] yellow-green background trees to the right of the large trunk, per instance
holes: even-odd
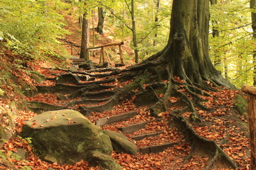
[[[236,86],[253,83],[251,16],[249,1],[219,1],[210,6],[211,25],[219,36],[210,36],[210,57],[218,61],[216,69]],[[223,19],[225,18],[225,19]],[[214,23],[213,21],[218,21]],[[211,29],[210,33],[214,30]]]

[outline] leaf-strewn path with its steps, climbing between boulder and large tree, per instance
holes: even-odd
[[[152,116],[148,108],[150,104],[143,104],[150,96],[134,95],[137,94],[137,89],[123,90],[128,84],[137,81],[133,79],[132,74],[127,75],[122,69],[115,68],[87,71],[47,70],[50,74],[46,74],[46,81],[38,84],[36,94],[28,98],[31,111],[41,113],[70,108],[80,111],[102,130],[124,133],[137,145],[138,154],[134,156],[113,152],[112,157],[123,169],[237,167],[233,159],[223,151],[223,148],[233,145],[230,142],[230,145],[227,145],[227,141],[235,132],[230,131],[229,136],[219,135],[215,138],[217,136],[212,135],[212,138],[206,139],[209,134],[203,134],[203,125],[191,125],[186,119],[189,117],[188,113],[180,106],[174,106],[157,117]],[[124,76],[125,79],[122,79]],[[145,89],[146,85],[141,86]],[[153,94],[161,98],[156,91]],[[154,101],[154,98],[152,100]],[[178,99],[173,97],[170,101],[175,103]],[[174,113],[171,113],[172,111]],[[201,118],[208,118],[204,115],[206,111],[199,113]],[[223,129],[217,125],[215,130]],[[213,129],[209,128],[210,131]]]

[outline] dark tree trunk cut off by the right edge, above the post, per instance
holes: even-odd
[[[250,0],[250,8],[255,10],[256,0]],[[256,13],[252,11],[253,38],[256,40]],[[256,51],[253,52],[253,86],[256,86]]]

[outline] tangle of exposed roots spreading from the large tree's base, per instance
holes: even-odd
[[[177,127],[184,133],[186,139],[191,145],[191,152],[184,162],[191,159],[195,154],[207,155],[210,160],[205,169],[214,168],[232,168],[237,166],[228,157],[225,152],[216,144],[216,142],[206,140],[199,136],[195,130],[189,125],[188,120],[183,118],[181,113],[191,112],[191,123],[201,123],[201,118],[197,115],[197,109],[209,111],[206,106],[203,106],[204,101],[201,96],[211,96],[208,91],[218,91],[220,86],[226,85],[233,87],[228,82],[225,82],[222,77],[206,76],[202,74],[198,77],[184,70],[178,69],[173,63],[166,63],[163,61],[162,55],[168,55],[168,51],[162,50],[158,54],[150,57],[141,64],[127,67],[127,69],[95,69],[90,72],[73,72],[76,74],[85,74],[92,77],[110,77],[112,75],[119,75],[119,81],[127,79],[134,79],[131,84],[128,84],[121,91],[100,91],[102,89],[110,89],[112,86],[105,86],[100,84],[110,83],[115,79],[107,79],[104,81],[93,81],[85,84],[79,84],[80,88],[73,91],[68,98],[86,97],[80,101],[70,102],[66,106],[75,106],[88,103],[100,103],[97,106],[80,106],[79,110],[84,115],[90,115],[91,112],[110,111],[114,106],[122,101],[134,98],[136,103],[146,100],[153,101],[152,103],[143,103],[150,105],[149,110],[151,115],[158,117],[159,113],[169,111],[170,108],[178,106],[181,109],[171,111],[170,115],[176,121]],[[93,72],[110,72],[105,74],[92,74]],[[226,84],[225,84],[226,83]],[[56,86],[60,86],[56,84]],[[71,88],[71,86],[68,86]],[[71,89],[69,89],[70,91]],[[44,89],[44,91],[49,91]],[[98,92],[91,92],[98,91]],[[95,99],[95,96],[97,99]],[[105,98],[104,98],[105,97]],[[110,97],[110,98],[107,98]],[[92,99],[93,98],[93,99]],[[170,101],[170,98],[176,98],[176,101]],[[223,141],[227,140],[225,137]],[[221,143],[220,143],[221,145]]]

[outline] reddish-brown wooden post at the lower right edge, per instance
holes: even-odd
[[[241,90],[248,94],[248,117],[250,129],[251,169],[256,170],[256,87],[242,85]]]

